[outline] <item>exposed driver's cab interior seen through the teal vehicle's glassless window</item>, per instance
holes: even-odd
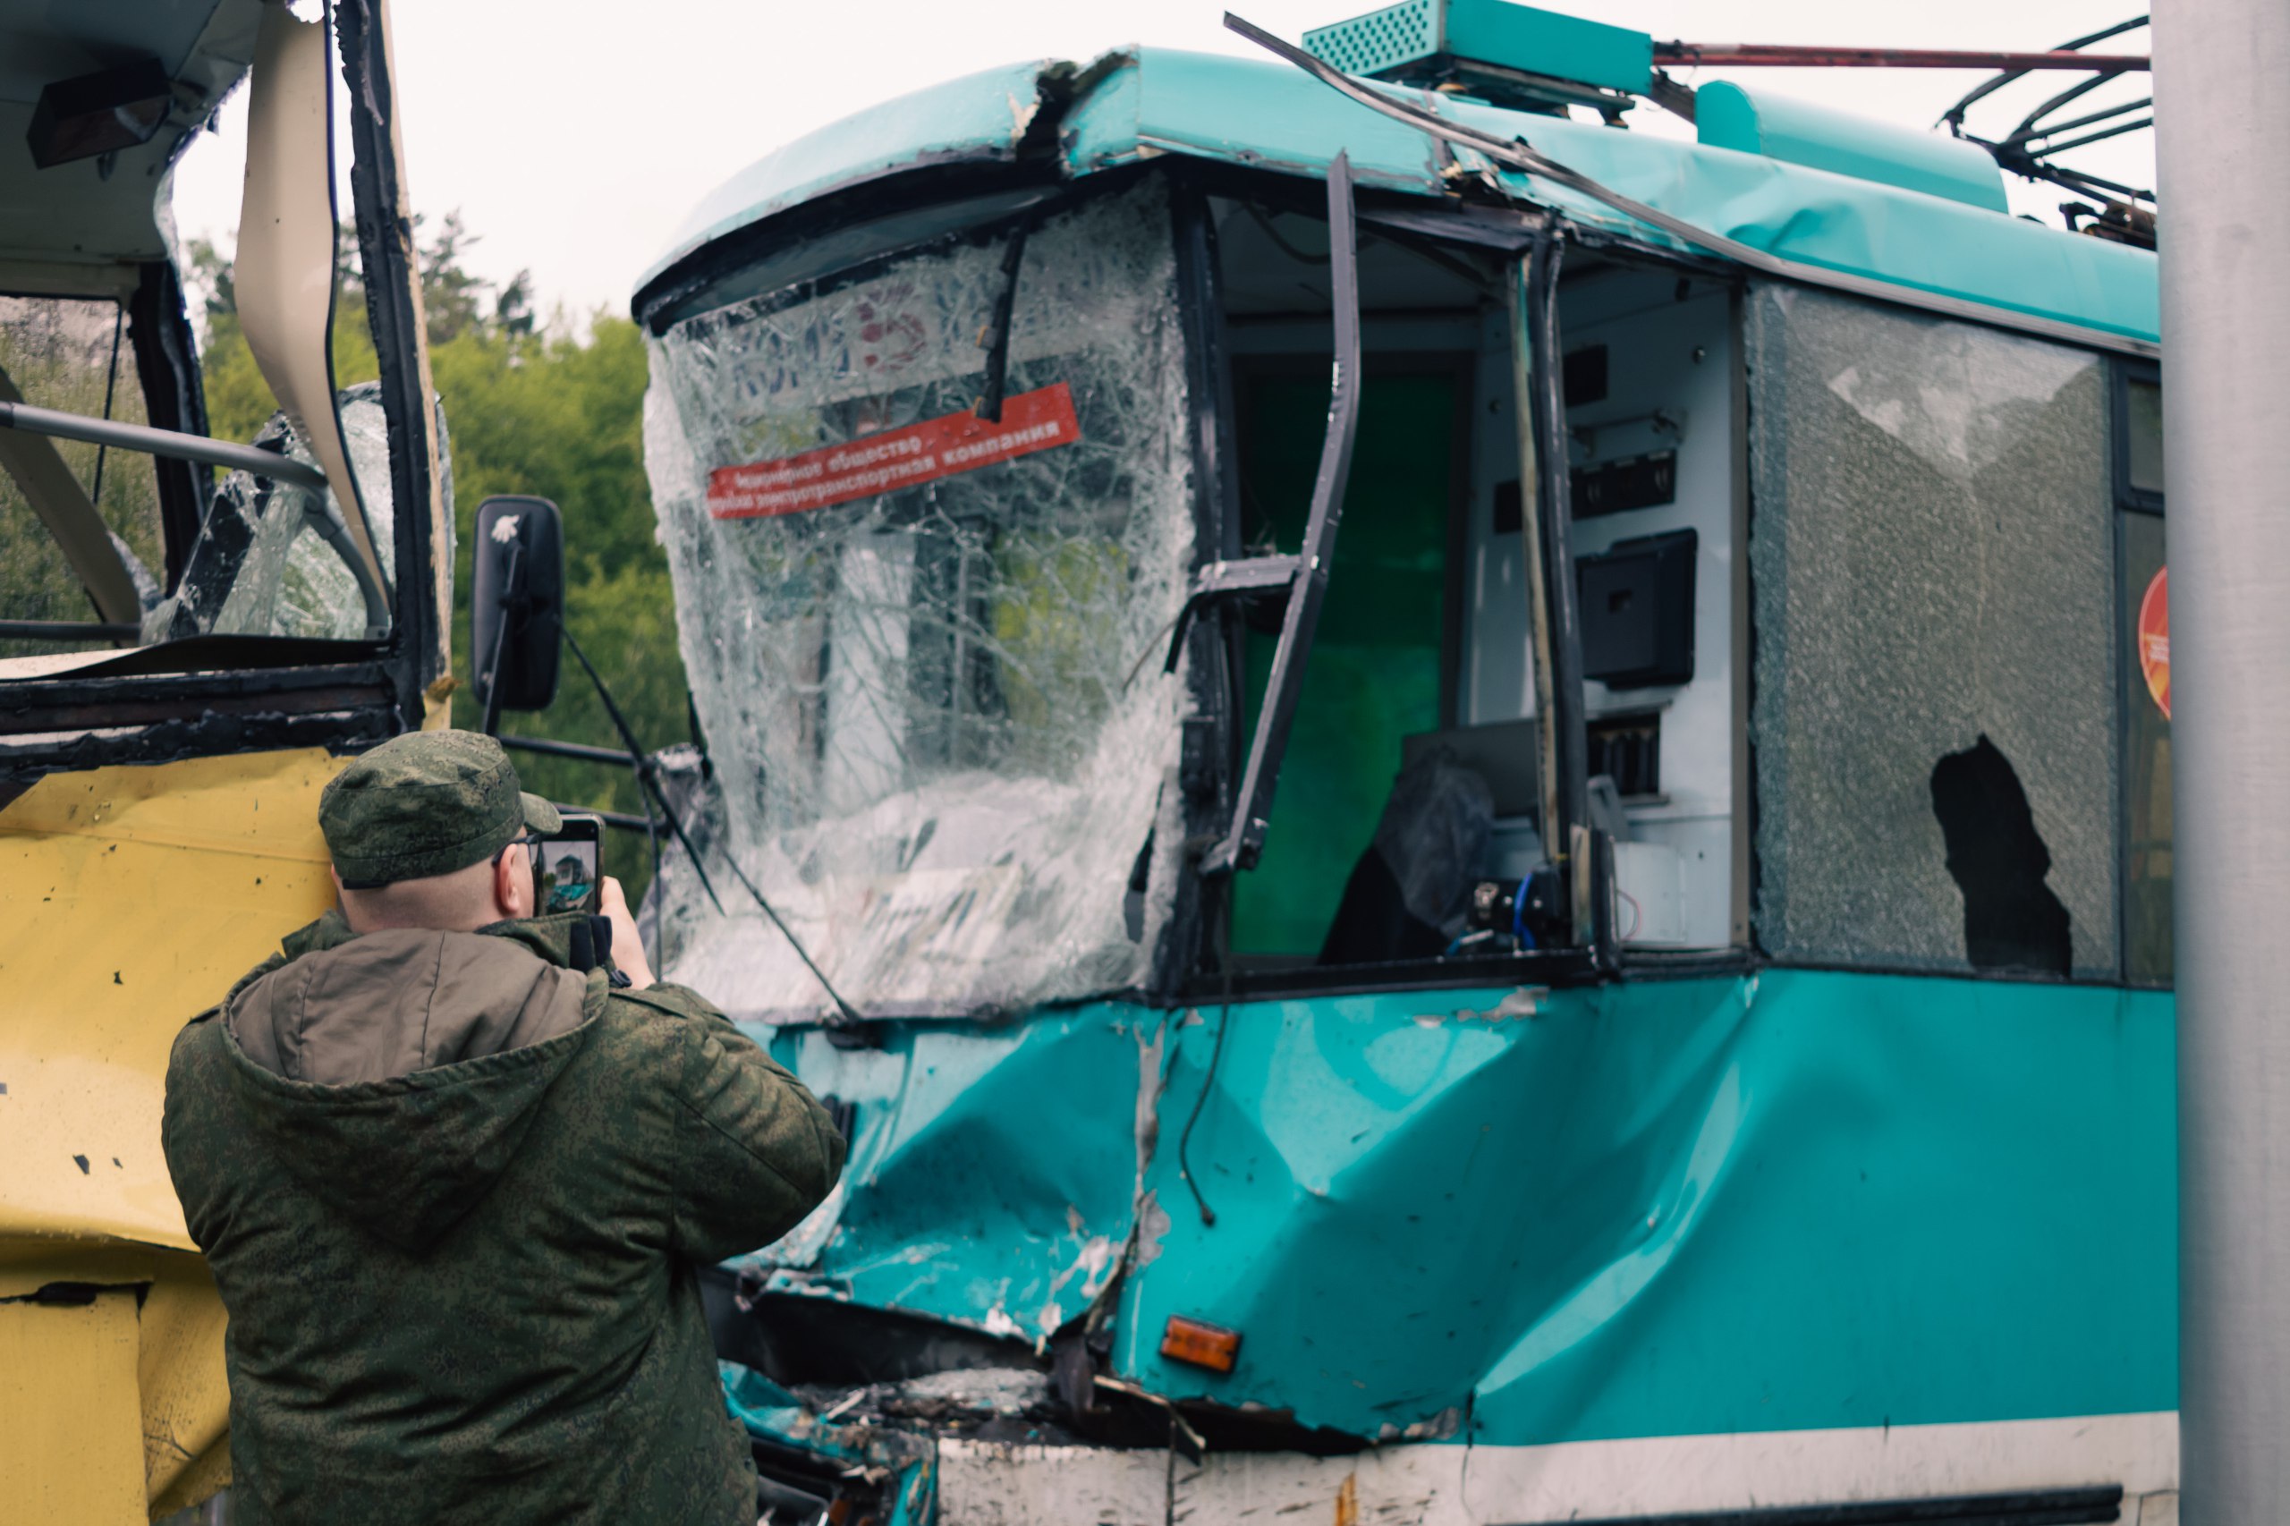
[[[1328,222],[1243,199],[1214,199],[1214,220],[1237,433],[1225,554],[1296,552],[1330,401]],[[1541,832],[1518,259],[1360,222],[1351,477],[1262,859],[1230,891],[1237,974],[1438,978],[1427,960],[1566,937]],[[1569,247],[1557,328],[1605,926],[1624,958],[1722,951],[1747,939],[1734,291]],[[1257,600],[1239,621],[1243,745],[1278,616]]]

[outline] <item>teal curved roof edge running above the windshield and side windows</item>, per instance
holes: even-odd
[[[779,149],[703,202],[669,259],[643,280],[710,238],[824,190],[898,167],[1008,154],[1033,101],[1033,73],[1019,66],[939,85]],[[1766,154],[1392,92],[1505,137],[1525,137],[1628,197],[1772,254],[2006,312],[2159,337],[2155,254],[2146,250]],[[1447,195],[1445,151],[1429,135],[1278,62],[1143,48],[1069,110],[1063,131],[1063,163],[1072,176],[1154,154],[1186,154],[1317,179],[1337,151],[1351,154],[1363,186]],[[1468,151],[1454,158],[1466,170],[1477,167]],[[1534,176],[1502,174],[1500,181],[1521,202],[1555,206],[1589,229],[1672,243]]]

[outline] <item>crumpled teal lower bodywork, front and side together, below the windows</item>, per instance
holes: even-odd
[[[744,1263],[774,1288],[1028,1340],[1115,1299],[1113,1377],[1383,1441],[2176,1405],[2162,992],[1768,969],[882,1040],[774,1040],[856,1109],[836,1203]]]

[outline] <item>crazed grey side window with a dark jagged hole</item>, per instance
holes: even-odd
[[[1759,942],[2114,976],[2100,362],[1788,289],[1747,355]]]

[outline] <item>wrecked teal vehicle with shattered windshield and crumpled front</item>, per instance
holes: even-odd
[[[637,291],[653,933],[852,1139],[712,1276],[772,1519],[2169,1519],[2137,209],[1280,53],[877,105]]]

